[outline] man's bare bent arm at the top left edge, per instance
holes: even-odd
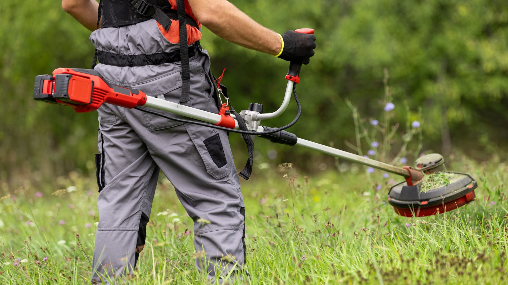
[[[95,0],[62,0],[62,9],[87,29],[97,29],[99,3]]]

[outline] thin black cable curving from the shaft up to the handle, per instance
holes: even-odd
[[[210,127],[210,128],[217,129],[217,130],[229,131],[229,132],[234,132],[234,133],[251,134],[251,135],[263,135],[263,134],[271,134],[271,133],[276,133],[276,132],[285,130],[285,129],[293,126],[298,121],[298,119],[300,119],[300,115],[302,114],[302,106],[300,105],[300,100],[298,99],[298,95],[296,94],[296,85],[293,85],[293,97],[295,98],[296,104],[298,106],[298,113],[296,114],[295,119],[293,119],[293,121],[291,123],[289,123],[289,124],[287,124],[287,125],[285,125],[283,127],[275,128],[273,130],[263,131],[263,132],[235,130],[235,129],[230,129],[230,128],[226,128],[226,127],[216,126],[214,124],[210,124],[210,123],[206,123],[206,122],[200,122],[200,121],[193,121],[193,120],[187,120],[187,119],[174,118],[174,117],[170,117],[170,116],[168,116],[168,115],[166,115],[164,113],[160,113],[160,112],[152,111],[152,110],[147,110],[147,109],[142,108],[140,106],[135,106],[134,109],[140,110],[140,111],[145,112],[145,113],[153,114],[153,115],[156,115],[156,116],[160,116],[160,117],[163,117],[163,118],[166,118],[166,119],[170,119],[170,120],[173,120],[173,121],[177,121],[177,122],[189,123],[189,124],[194,124],[194,125],[199,125],[199,126],[204,126],[204,127]],[[236,118],[236,119],[237,120],[242,120],[242,118]]]

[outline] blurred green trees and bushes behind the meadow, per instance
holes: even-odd
[[[232,0],[261,24],[282,33],[314,28],[316,54],[302,68],[297,91],[302,117],[291,132],[347,150],[354,139],[346,98],[366,119],[383,114],[383,69],[390,72],[394,121],[424,121],[424,149],[444,155],[460,150],[486,160],[506,157],[508,141],[508,9],[505,0]],[[56,67],[89,68],[90,32],[61,10],[60,2],[2,1],[0,8],[0,183],[51,181],[54,174],[94,171],[97,114],[36,102],[36,75]],[[220,17],[220,15],[217,15]],[[237,110],[261,102],[265,112],[282,101],[288,63],[219,39],[203,28],[202,46],[212,69],[230,89]],[[421,106],[422,115],[417,110]],[[291,103],[268,126],[290,122]],[[232,135],[238,165],[245,154]],[[276,150],[275,163],[312,169],[333,159],[256,140],[258,161]]]

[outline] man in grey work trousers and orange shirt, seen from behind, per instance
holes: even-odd
[[[151,1],[177,10],[177,0],[147,2]],[[149,96],[180,101],[183,73],[177,20],[172,18],[170,26],[163,25],[160,22],[164,21],[136,14],[126,0],[103,0],[102,28],[96,29],[95,0],[62,0],[62,9],[93,31],[90,40],[100,61],[95,69],[107,81],[140,89]],[[190,70],[188,105],[194,108],[218,113],[210,60],[198,42],[201,24],[225,40],[285,60],[306,64],[314,54],[313,35],[293,31],[280,35],[226,0],[185,0],[185,13]],[[177,60],[173,62],[161,60],[175,56]],[[103,104],[98,113],[100,220],[93,279],[121,276],[136,266],[145,244],[160,170],[194,220],[196,251],[204,252],[207,260],[197,259],[198,269],[209,278],[219,279],[228,269],[242,270],[245,210],[227,133],[109,104]]]

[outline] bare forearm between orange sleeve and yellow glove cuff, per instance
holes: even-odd
[[[279,35],[260,25],[226,0],[188,0],[204,26],[227,41],[245,48],[277,55],[282,47]]]

